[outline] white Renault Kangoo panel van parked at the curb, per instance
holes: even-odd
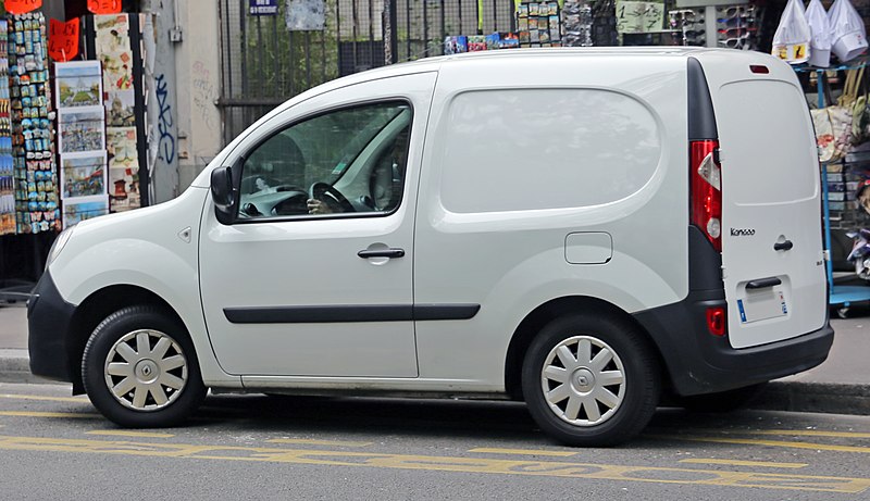
[[[819,164],[787,64],[514,50],[340,78],[181,197],[62,233],[34,374],[170,426],[214,392],[523,399],[577,446],[824,361]]]

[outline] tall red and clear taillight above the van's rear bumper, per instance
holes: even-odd
[[[689,179],[691,221],[722,252],[722,171],[718,162],[719,141],[692,141]]]

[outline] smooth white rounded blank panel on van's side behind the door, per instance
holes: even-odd
[[[440,191],[451,212],[613,202],[639,190],[661,156],[654,116],[618,92],[471,91],[447,113]]]

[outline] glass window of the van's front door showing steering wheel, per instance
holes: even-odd
[[[411,107],[387,102],[297,122],[247,153],[239,217],[384,214],[405,187]]]

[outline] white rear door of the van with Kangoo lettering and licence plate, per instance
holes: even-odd
[[[708,51],[697,59],[719,129],[731,346],[819,329],[828,308],[819,162],[794,71],[757,52]]]

